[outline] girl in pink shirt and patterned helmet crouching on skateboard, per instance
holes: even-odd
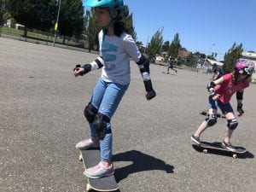
[[[230,105],[231,96],[239,91],[240,103],[242,101],[242,90],[247,88],[251,81],[251,76],[254,72],[254,63],[250,60],[238,60],[235,64],[235,69],[232,73],[227,73],[219,79],[211,81],[207,85],[207,89],[210,92],[209,96],[209,111],[208,117],[201,123],[197,131],[191,136],[191,140],[194,143],[200,144],[200,136],[207,127],[217,123],[217,108],[220,108],[227,119],[227,129],[222,143],[223,148],[227,148],[231,151],[236,151],[236,148],[230,143],[230,138],[233,131],[238,125],[233,108]],[[217,101],[217,105],[216,102]],[[242,104],[240,105],[240,111],[242,111]]]

